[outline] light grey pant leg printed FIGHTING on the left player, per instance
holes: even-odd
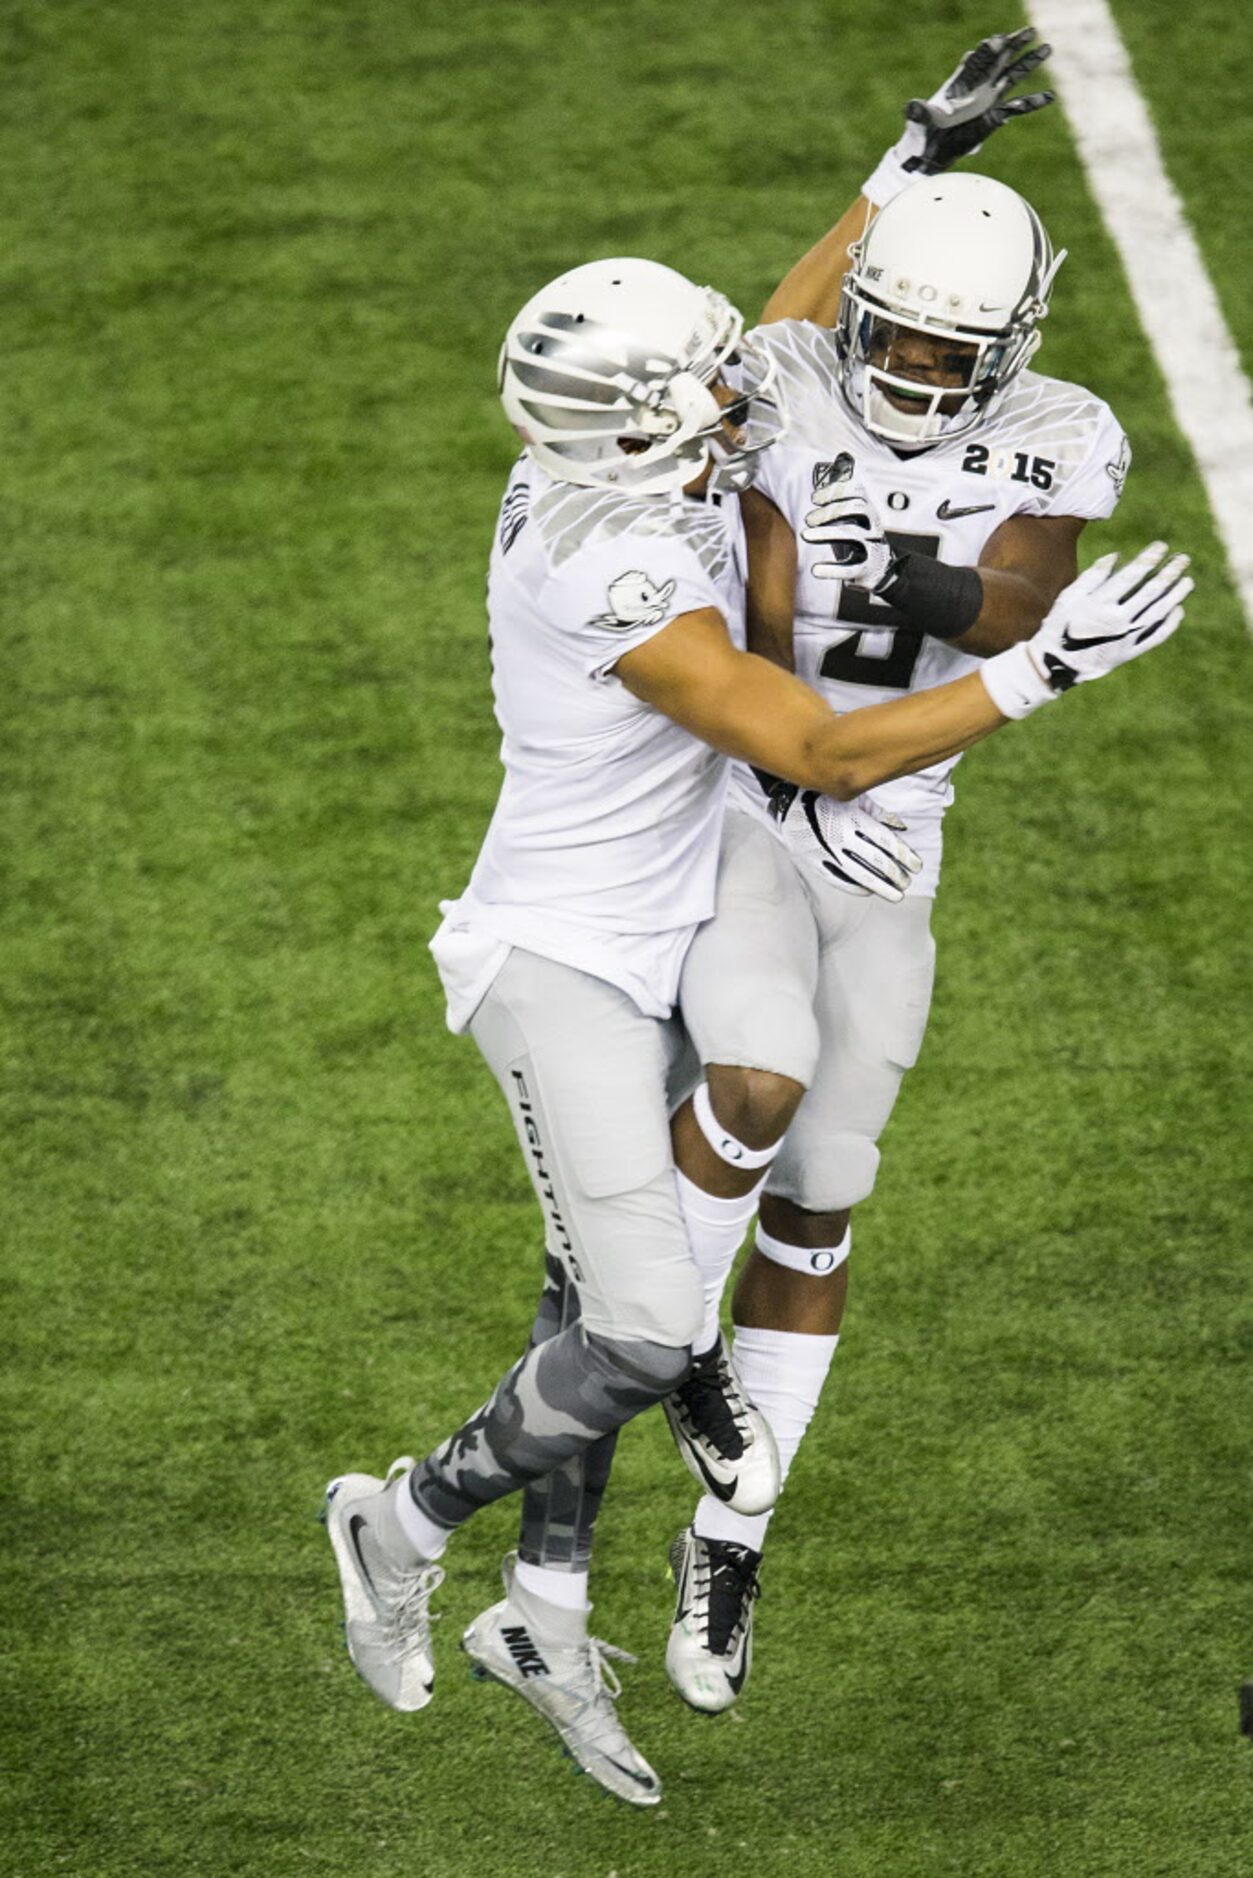
[[[676,1027],[515,948],[470,1025],[503,1089],[586,1330],[682,1347],[701,1326],[665,1102]]]

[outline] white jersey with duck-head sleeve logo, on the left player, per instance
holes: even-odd
[[[624,496],[517,462],[488,573],[505,779],[432,941],[453,1029],[511,945],[618,984],[650,1016],[671,1012],[688,943],[714,911],[729,764],[611,667],[701,607],[742,646],[744,578],[735,496]]]

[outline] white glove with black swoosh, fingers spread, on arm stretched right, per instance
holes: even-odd
[[[1033,639],[984,659],[981,676],[1005,717],[1028,712],[1118,670],[1142,652],[1163,646],[1183,618],[1195,588],[1185,578],[1187,554],[1170,554],[1165,541],[1118,565],[1116,554],[1071,580],[1052,603]]]

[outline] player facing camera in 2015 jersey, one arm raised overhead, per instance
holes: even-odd
[[[1063,255],[1013,190],[945,173],[1007,116],[1048,101],[1005,101],[1046,56],[1031,38],[984,41],[936,98],[907,107],[900,145],[753,334],[791,413],[759,471],[781,520],[753,541],[753,590],[776,616],[776,655],[840,712],[922,697],[1037,633],[1075,580],[1086,522],[1112,513],[1127,473],[1127,439],[1101,398],[1028,370]],[[821,800],[736,766],[718,915],[680,988],[706,1065],[697,1102],[748,1149],[731,1161],[712,1131],[699,1140],[691,1114],[676,1117],[691,1178],[725,1224],[693,1239],[704,1343],[667,1403],[706,1484],[671,1547],[667,1668],[703,1711],[729,1707],[750,1671],[770,1517],[719,1485],[744,1444],[738,1399],[765,1412],[787,1472],[836,1352],[851,1209],[874,1187],[877,1138],[922,1044],[954,764],[872,794],[922,858],[896,903],[849,901],[815,841]],[[729,1352],[718,1300],[753,1209]],[[736,1371],[733,1395],[721,1378]]]

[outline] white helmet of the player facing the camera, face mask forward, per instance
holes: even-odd
[[[1065,250],[1054,259],[1044,223],[1014,190],[966,171],[913,182],[849,252],[836,346],[857,417],[896,449],[973,430],[1035,353]],[[892,372],[900,331],[969,347],[962,381]]]

